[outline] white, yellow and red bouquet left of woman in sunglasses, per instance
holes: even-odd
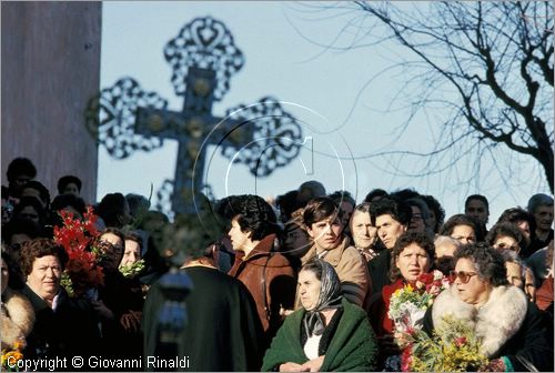
[[[390,300],[387,317],[393,320],[394,335],[403,346],[404,334],[411,334],[415,329],[422,329],[426,310],[434,299],[451,285],[448,278],[440,271],[423,273],[414,285],[406,284],[397,289]]]

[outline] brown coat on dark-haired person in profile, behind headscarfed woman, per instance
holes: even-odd
[[[295,299],[295,272],[289,260],[274,252],[275,234],[266,235],[246,258],[235,255],[229,274],[245,284],[256,303],[256,311],[271,339],[281,325],[280,309],[292,309]]]

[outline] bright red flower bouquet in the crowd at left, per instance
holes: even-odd
[[[70,296],[82,296],[88,290],[103,284],[104,273],[99,262],[103,250],[98,243],[97,216],[89,206],[83,220],[61,211],[63,226],[54,226],[54,242],[65,249],[69,261],[62,274],[62,286]]]

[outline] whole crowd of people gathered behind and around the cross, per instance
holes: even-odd
[[[208,201],[213,223],[184,220],[185,233],[170,240],[188,246],[178,269],[176,248],[161,245],[172,222],[144,196],[90,203],[82,181],[62,175],[51,199],[36,177],[32,161],[14,159],[1,195],[1,347],[22,359],[143,362],[128,371],[175,370],[149,369],[149,356],[186,356],[189,371],[401,371],[392,299],[442,273],[450,285],[423,310],[423,332],[457,317],[492,371],[553,371],[551,195],[507,206],[490,229],[481,194],[452,216],[412,189],[355,201],[310,181],[272,201],[230,195]],[[91,215],[81,255],[94,253],[95,272],[73,265],[85,276],[69,284],[75,251],[60,229]],[[160,317],[178,274],[190,283],[164,315],[175,331]]]

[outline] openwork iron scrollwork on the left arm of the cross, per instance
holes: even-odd
[[[134,133],[137,108],[165,109],[168,101],[147,92],[132,78],[122,78],[93,97],[85,110],[87,129],[111,157],[124,159],[135,150],[151,151],[163,139]]]

